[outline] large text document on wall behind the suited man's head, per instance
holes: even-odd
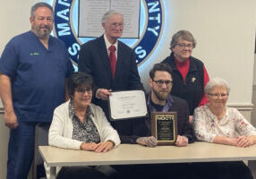
[[[109,10],[124,15],[122,38],[140,38],[141,0],[80,0],[78,37],[98,38],[104,33],[101,18]]]

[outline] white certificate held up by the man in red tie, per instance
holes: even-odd
[[[112,92],[109,96],[110,120],[122,120],[148,115],[146,98],[142,90]]]

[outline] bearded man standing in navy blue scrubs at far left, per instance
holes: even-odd
[[[38,123],[51,122],[64,102],[65,79],[73,72],[64,42],[50,36],[53,9],[32,6],[31,30],[10,40],[0,59],[0,97],[10,128],[7,178],[27,178]]]

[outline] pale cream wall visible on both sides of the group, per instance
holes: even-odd
[[[30,30],[30,6],[36,0],[0,0],[0,54],[5,44],[23,31]],[[255,0],[166,0],[161,47],[156,49],[148,68],[140,66],[141,79],[147,84],[149,69],[169,55],[169,42],[177,30],[190,30],[198,45],[193,55],[201,59],[209,77],[226,79],[231,86],[230,105],[252,104],[252,76],[255,43]],[[0,115],[0,178],[5,178],[8,130]]]

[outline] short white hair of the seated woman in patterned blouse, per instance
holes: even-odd
[[[214,87],[225,87],[227,93],[229,94],[230,87],[229,87],[228,83],[221,78],[213,78],[213,79],[209,80],[207,85],[204,87],[204,92],[206,94],[209,94],[210,90],[212,90]]]

